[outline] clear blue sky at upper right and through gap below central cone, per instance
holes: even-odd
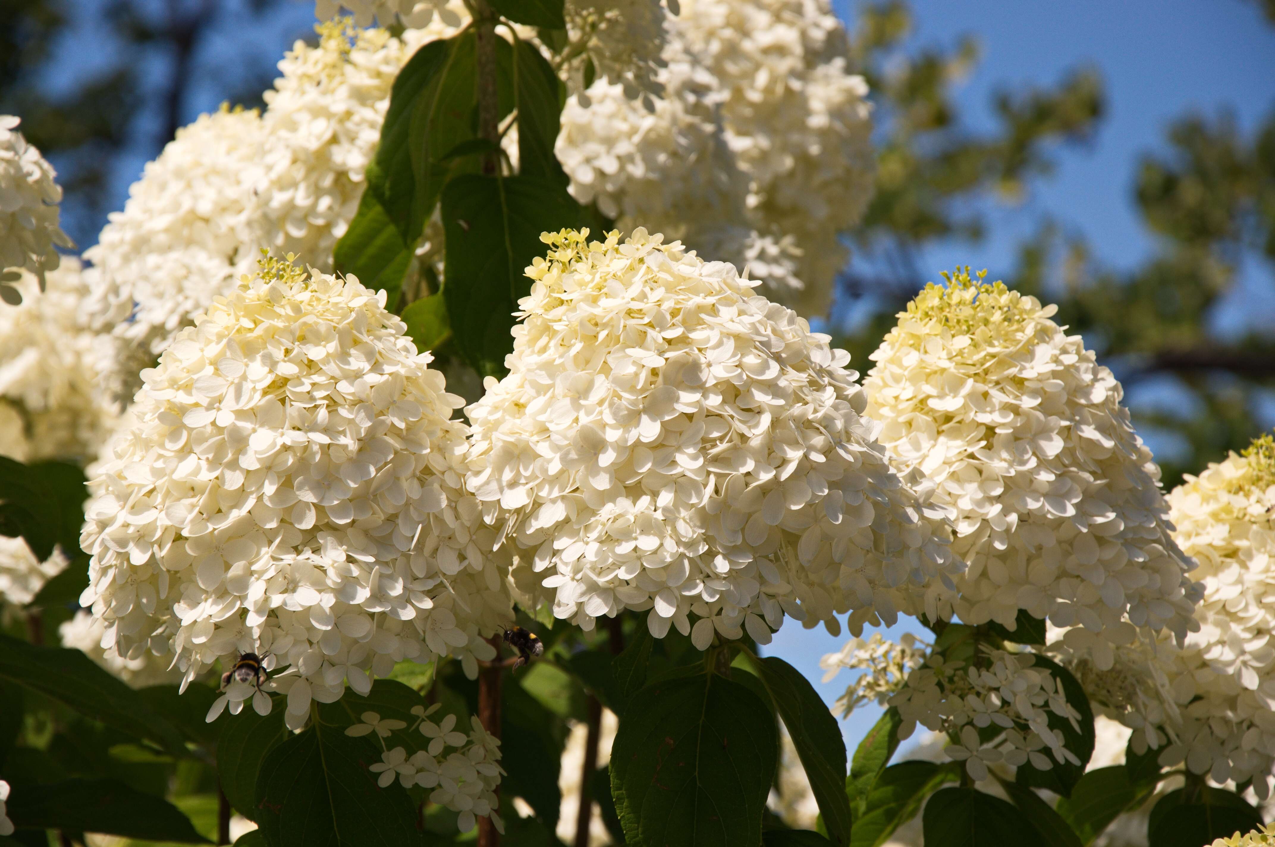
[[[856,8],[836,4],[852,24]],[[1191,110],[1215,115],[1230,108],[1239,126],[1251,131],[1275,108],[1275,27],[1264,22],[1256,3],[914,0],[913,8],[917,28],[910,46],[952,45],[965,33],[978,37],[983,59],[958,101],[975,129],[992,126],[989,105],[996,89],[1052,84],[1076,66],[1098,68],[1108,94],[1107,116],[1093,144],[1058,151],[1057,171],[1026,203],[993,213],[986,242],[943,245],[924,256],[923,267],[936,278],[938,270],[958,263],[989,268],[993,276],[1007,272],[1017,240],[1042,216],[1081,232],[1100,261],[1131,268],[1154,249],[1133,205],[1137,157],[1163,151],[1165,128]],[[1271,277],[1269,264],[1246,261],[1244,291],[1214,316],[1219,330],[1247,321],[1275,327]],[[890,634],[905,630],[923,633],[919,625],[900,624]],[[822,626],[806,630],[789,621],[769,652],[792,662],[831,703],[853,677],[843,671],[834,681],[820,682],[819,659],[845,639],[829,635]],[[878,708],[863,708],[841,725],[850,750],[877,717]]]

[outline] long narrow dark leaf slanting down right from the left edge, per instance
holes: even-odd
[[[175,756],[189,755],[185,737],[172,723],[79,651],[0,635],[0,680],[38,691],[134,739],[154,741]]]

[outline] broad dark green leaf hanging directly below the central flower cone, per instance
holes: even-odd
[[[699,674],[639,691],[611,751],[629,847],[754,847],[778,730],[747,688]]]

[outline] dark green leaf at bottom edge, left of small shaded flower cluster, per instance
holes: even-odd
[[[256,823],[270,847],[419,844],[416,807],[398,779],[385,788],[367,737],[316,721],[270,750],[256,783]]]

